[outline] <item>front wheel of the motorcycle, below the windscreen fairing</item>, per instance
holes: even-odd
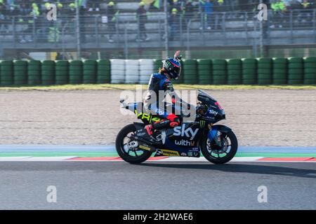
[[[232,160],[237,153],[237,148],[237,137],[232,130],[227,133],[218,131],[212,141],[204,137],[201,143],[202,154],[206,160],[215,164],[224,164]]]

